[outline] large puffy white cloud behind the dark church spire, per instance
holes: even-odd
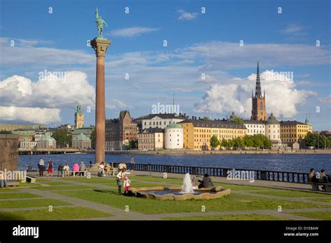
[[[316,93],[295,89],[290,78],[277,80],[277,74],[265,71],[260,74],[261,87],[265,89],[267,113],[277,117],[295,117],[297,106],[304,104],[309,96]],[[201,101],[195,104],[196,112],[226,113],[235,111],[243,118],[251,115],[251,91],[255,90],[256,74],[246,79],[228,80],[225,84],[213,84]],[[241,112],[246,112],[241,113]]]

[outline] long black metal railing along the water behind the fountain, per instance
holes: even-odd
[[[113,166],[118,167],[119,163],[113,163]],[[203,166],[184,166],[184,165],[155,165],[145,163],[127,163],[128,170],[138,170],[147,172],[167,172],[176,174],[205,175],[206,173],[213,177],[233,177],[236,178],[236,173],[240,173],[239,178],[246,176],[249,179],[258,179],[272,182],[290,182],[290,183],[308,183],[307,172],[288,172],[274,170],[251,170],[238,168],[210,168]],[[245,174],[245,175],[243,175]]]

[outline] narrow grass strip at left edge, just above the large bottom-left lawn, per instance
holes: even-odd
[[[71,205],[56,199],[42,198],[34,200],[1,200],[0,208],[48,207]]]

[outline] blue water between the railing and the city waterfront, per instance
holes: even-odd
[[[130,163],[131,154],[106,154],[105,161]],[[331,172],[331,154],[213,154],[213,155],[175,155],[175,154],[134,154],[135,163],[151,163],[160,165],[192,165],[205,167],[281,170],[293,172],[308,172],[310,168],[325,169]],[[94,161],[94,154],[36,154],[20,155],[18,167],[26,170],[29,163],[37,168],[39,158],[45,162],[52,159],[54,167],[59,162]]]

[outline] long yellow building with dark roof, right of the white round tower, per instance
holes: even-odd
[[[210,138],[213,135],[221,141],[237,137],[244,137],[247,128],[234,121],[224,120],[184,120],[179,122],[183,127],[184,149],[207,150],[212,149]]]

